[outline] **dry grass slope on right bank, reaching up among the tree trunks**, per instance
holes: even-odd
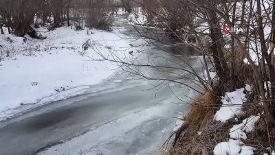
[[[239,56],[239,54],[236,49],[236,55]],[[230,57],[232,56],[228,56]],[[247,64],[237,63],[236,69],[227,81],[218,82],[212,87],[214,91],[207,92],[199,98],[198,102],[192,104],[183,126],[175,132],[175,141],[168,154],[213,154],[217,143],[230,139],[229,131],[232,126],[252,115],[261,114],[263,106],[259,104],[261,97],[257,88],[254,87],[256,86],[254,82],[254,71]],[[221,106],[219,95],[223,95],[225,91],[231,92],[236,88],[243,88],[245,84],[251,84],[252,93],[246,93],[248,101],[243,104],[243,115],[237,116],[237,120],[230,119],[225,123],[213,121],[215,112]],[[270,130],[268,126],[271,125],[266,124],[264,117],[261,117],[254,131],[247,134],[248,139],[243,141],[245,145],[257,149],[254,154],[269,152],[267,147],[275,150],[275,130]]]

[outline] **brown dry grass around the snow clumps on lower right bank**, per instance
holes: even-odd
[[[186,122],[175,133],[177,141],[168,154],[213,154],[212,150],[217,143],[230,139],[229,130],[232,126],[262,111],[261,104],[255,101],[259,101],[257,95],[248,95],[248,103],[243,106],[245,113],[238,116],[239,121],[230,119],[221,123],[213,121],[214,113],[219,108],[217,105],[221,105],[221,101],[214,93],[206,93],[199,102],[192,104],[190,112],[185,117]],[[248,139],[243,142],[257,149],[254,154],[269,152],[267,147],[275,150],[275,130],[269,130],[263,118],[256,124],[255,130],[247,136]]]

